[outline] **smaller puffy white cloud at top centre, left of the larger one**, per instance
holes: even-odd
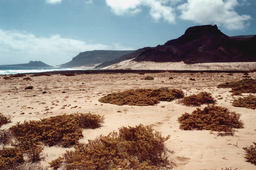
[[[147,6],[155,21],[163,18],[167,22],[175,23],[175,13],[171,4],[177,1],[179,0],[106,0],[106,3],[118,16],[139,13],[141,6]]]

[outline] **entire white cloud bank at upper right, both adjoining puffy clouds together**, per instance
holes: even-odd
[[[143,6],[148,7],[150,16],[158,21],[163,19],[175,23],[178,18],[199,24],[217,24],[229,30],[244,29],[252,19],[249,15],[239,15],[236,6],[248,4],[246,0],[105,0],[115,15],[136,14]]]

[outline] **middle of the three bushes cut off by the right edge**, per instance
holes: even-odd
[[[256,109],[256,96],[249,95],[247,97],[239,97],[239,99],[235,99],[232,103],[235,107],[245,107],[248,109]]]

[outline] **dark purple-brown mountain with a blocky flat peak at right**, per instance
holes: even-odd
[[[143,51],[133,61],[179,62],[256,62],[256,36],[229,37],[217,26],[194,26],[181,37]]]

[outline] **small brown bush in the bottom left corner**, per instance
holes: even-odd
[[[12,170],[12,167],[24,162],[20,148],[3,148],[0,150],[0,170]]]

